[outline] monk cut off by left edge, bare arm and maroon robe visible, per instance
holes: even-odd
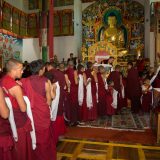
[[[8,121],[9,109],[5,103],[4,94],[0,87],[0,159],[12,160],[13,141]]]

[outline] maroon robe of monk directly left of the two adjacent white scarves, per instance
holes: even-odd
[[[66,74],[68,75],[70,81],[70,93],[68,93],[68,101],[69,101],[69,120],[71,123],[76,123],[79,120],[78,117],[78,85],[75,83],[74,79],[74,69],[68,68],[66,70]]]

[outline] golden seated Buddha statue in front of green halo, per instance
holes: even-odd
[[[107,41],[117,48],[124,47],[124,33],[117,28],[117,19],[115,16],[108,17],[108,27],[101,33],[101,41]]]

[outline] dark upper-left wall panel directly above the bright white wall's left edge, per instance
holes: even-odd
[[[27,14],[21,12],[20,14],[20,35],[27,36]]]

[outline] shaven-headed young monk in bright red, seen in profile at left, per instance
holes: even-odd
[[[23,92],[16,79],[20,79],[23,73],[23,65],[20,61],[10,59],[7,64],[7,74],[2,78],[1,85],[6,90],[14,113],[14,119],[18,132],[18,142],[15,142],[14,158],[16,160],[31,160],[33,158],[30,131],[32,130],[30,119],[26,113],[26,103]]]

